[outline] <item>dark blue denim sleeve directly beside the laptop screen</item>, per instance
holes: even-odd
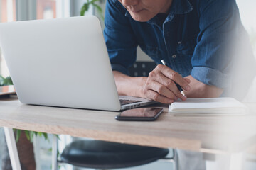
[[[136,61],[137,40],[126,10],[117,0],[107,0],[104,38],[113,70],[129,74],[129,67]]]

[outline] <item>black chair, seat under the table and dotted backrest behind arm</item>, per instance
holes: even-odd
[[[129,72],[135,77],[148,76],[155,67],[154,62],[136,62]],[[92,169],[117,169],[148,164],[163,159],[168,153],[169,149],[157,147],[78,140],[65,147],[58,162]]]

